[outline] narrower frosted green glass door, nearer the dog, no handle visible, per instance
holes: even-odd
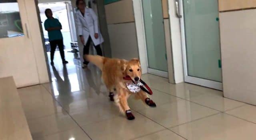
[[[148,73],[168,77],[162,0],[142,0]]]

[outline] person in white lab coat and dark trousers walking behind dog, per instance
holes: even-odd
[[[84,0],[76,0],[76,7],[78,8],[76,12],[77,33],[80,41],[84,45],[83,55],[89,54],[90,43],[92,41],[97,54],[102,56],[100,44],[104,42],[104,39],[98,27],[97,15],[91,8],[86,8]],[[88,63],[89,62],[84,60],[83,68],[85,68]]]

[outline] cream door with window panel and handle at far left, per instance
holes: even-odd
[[[0,77],[13,76],[17,87],[39,84],[25,0],[11,1],[0,2]]]

